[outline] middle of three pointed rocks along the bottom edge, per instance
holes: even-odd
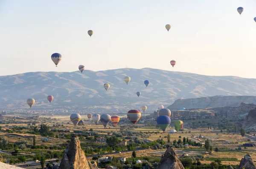
[[[160,160],[158,169],[184,169],[173,146],[169,146]]]

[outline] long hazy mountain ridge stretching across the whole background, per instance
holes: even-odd
[[[131,77],[128,85],[123,80],[124,76]],[[148,87],[143,83],[146,79],[150,81]],[[104,83],[111,85],[107,92],[103,88]],[[137,91],[141,92],[140,97],[137,97]],[[46,99],[48,95],[54,96],[51,104]],[[231,96],[228,98],[236,100],[238,104],[241,100],[254,102],[256,98],[249,96],[256,95],[256,79],[204,76],[151,68],[123,68],[98,72],[84,70],[83,73],[79,71],[30,72],[0,76],[0,108],[2,109],[29,108],[26,99],[32,97],[36,100],[33,109],[52,109],[52,107],[84,109],[92,106],[119,111],[139,109],[145,104],[151,111],[157,107],[157,104],[167,107],[176,99],[215,95]],[[192,100],[189,104],[180,105],[186,108],[211,106],[208,101],[198,104],[201,101],[200,98],[195,99],[197,102]],[[231,100],[227,102],[233,102]],[[177,101],[174,105],[176,104]],[[180,105],[171,109],[178,109]],[[220,101],[217,107],[220,106],[227,106],[227,104]]]

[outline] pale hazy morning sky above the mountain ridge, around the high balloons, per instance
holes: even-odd
[[[0,75],[127,65],[256,78],[254,17],[255,0],[0,0]]]

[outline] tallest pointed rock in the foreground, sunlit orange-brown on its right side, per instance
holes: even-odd
[[[59,169],[98,169],[98,167],[87,161],[79,138],[73,136],[65,149]]]

